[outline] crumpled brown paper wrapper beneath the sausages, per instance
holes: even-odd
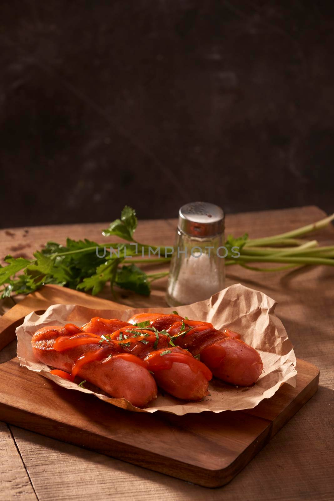
[[[253,386],[236,387],[213,379],[209,382],[210,395],[200,402],[186,402],[159,392],[156,400],[150,402],[148,407],[139,409],[125,399],[110,398],[96,387],[93,387],[95,391],[91,391],[50,374],[50,368],[38,362],[32,352],[31,337],[47,325],[73,323],[81,327],[96,316],[126,321],[138,312],[170,313],[171,308],[95,310],[77,305],[52,305],[43,315],[30,313],[23,324],[16,328],[17,356],[21,366],[39,372],[59,386],[94,394],[107,403],[135,412],[160,410],[181,416],[188,412],[250,409],[264,398],[270,398],[282,383],[293,387],[296,384],[296,358],[286,331],[274,314],[275,306],[275,301],[265,294],[236,284],[206,301],[177,308],[177,312],[183,317],[211,322],[216,329],[227,327],[240,333],[241,339],[260,353],[263,362],[263,372]]]

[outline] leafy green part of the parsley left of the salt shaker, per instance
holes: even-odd
[[[168,272],[147,275],[135,266],[134,262],[157,263],[168,262],[170,259],[129,259],[135,251],[141,256],[148,254],[148,245],[136,242],[133,232],[137,226],[135,211],[125,206],[120,219],[111,222],[107,229],[102,230],[104,236],[116,235],[125,240],[137,243],[137,248],[128,243],[102,243],[87,240],[72,240],[67,238],[66,245],[53,241],[33,254],[34,259],[4,258],[6,266],[0,266],[1,298],[16,294],[29,294],[45,284],[55,284],[71,289],[91,291],[98,294],[107,282],[111,291],[116,285],[122,289],[134,291],[148,296],[150,284]],[[150,246],[156,250],[155,246]],[[97,254],[104,258],[98,257]],[[97,250],[96,250],[97,249]],[[119,249],[119,250],[118,250]],[[164,247],[160,247],[164,253]]]

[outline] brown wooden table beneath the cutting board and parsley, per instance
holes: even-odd
[[[317,207],[234,214],[227,233],[251,237],[276,234],[324,217]],[[139,222],[139,241],[171,244],[175,220]],[[0,256],[31,256],[46,240],[86,237],[102,241],[105,223],[0,230]],[[314,234],[332,244],[332,227]],[[320,369],[317,393],[229,484],[207,489],[0,423],[0,500],[295,500],[334,499],[334,269],[309,267],[290,273],[257,273],[230,267],[227,283],[241,282],[278,302],[277,315],[296,356]],[[166,282],[155,283],[150,300],[124,294],[136,307],[163,305]],[[12,306],[2,302],[2,313]],[[0,362],[15,355],[14,342]]]

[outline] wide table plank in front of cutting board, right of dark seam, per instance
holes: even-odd
[[[104,501],[109,497],[116,501],[332,501],[334,444],[328,407],[334,405],[334,393],[325,391],[323,399],[319,388],[246,468],[215,489],[12,429],[40,501]]]

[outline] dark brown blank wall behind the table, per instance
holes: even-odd
[[[334,210],[334,3],[0,7],[1,226]]]

